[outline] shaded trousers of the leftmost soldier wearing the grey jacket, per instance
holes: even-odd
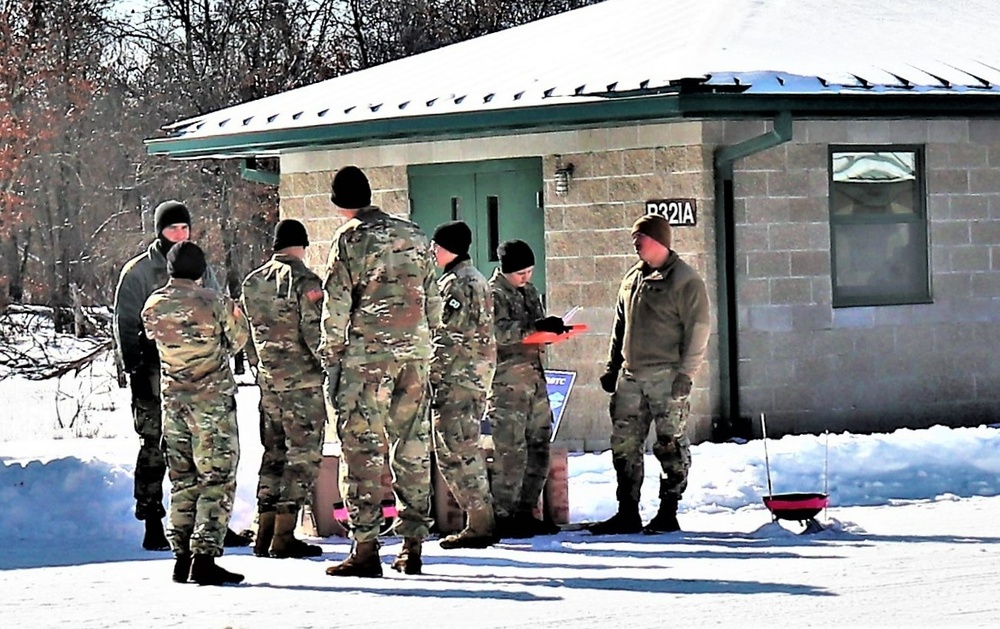
[[[159,376],[153,374],[152,390],[160,388]],[[163,424],[160,399],[132,398],[132,421],[139,435],[139,455],[135,459],[135,517],[159,520],[167,514],[163,508],[163,477],[167,462],[163,458]]]

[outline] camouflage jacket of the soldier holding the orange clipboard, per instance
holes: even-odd
[[[500,269],[496,269],[490,277],[490,290],[497,337],[497,373],[525,364],[542,369],[542,346],[522,343],[526,336],[537,331],[535,321],[545,316],[538,289],[530,282],[515,288]]]

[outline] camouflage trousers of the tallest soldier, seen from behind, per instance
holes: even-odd
[[[356,541],[378,537],[387,453],[398,512],[395,533],[424,539],[430,532],[427,376],[426,360],[343,366],[334,404],[343,452],[340,489]]]

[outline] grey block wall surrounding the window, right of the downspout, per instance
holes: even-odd
[[[925,147],[933,303],[832,307],[831,144]],[[1000,420],[1000,122],[796,122],[737,163],[735,196],[745,416],[775,435]]]

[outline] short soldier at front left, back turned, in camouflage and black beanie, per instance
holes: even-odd
[[[142,322],[160,353],[173,578],[222,585],[243,580],[215,558],[222,554],[240,458],[229,359],[250,331],[232,299],[198,285],[205,268],[198,245],[174,245],[167,254],[170,280],[146,300]]]

